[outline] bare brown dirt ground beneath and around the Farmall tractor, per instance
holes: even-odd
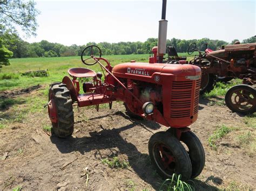
[[[217,190],[236,182],[240,189],[255,189],[256,158],[237,144],[237,131],[221,139],[218,150],[208,145],[217,125],[243,127],[244,117],[208,102],[201,98],[199,118],[191,126],[206,155],[204,170],[191,185],[196,190]],[[163,180],[150,164],[147,143],[153,133],[167,128],[133,121],[122,103],[112,108],[97,112],[75,107],[75,131],[67,139],[43,130],[43,124],[50,125],[47,109],[0,129],[0,190],[18,186],[22,190],[158,190]],[[112,169],[103,164],[102,159],[114,156],[129,162],[129,167]]]

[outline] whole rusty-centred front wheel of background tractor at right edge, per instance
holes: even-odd
[[[230,88],[225,95],[227,107],[240,114],[256,112],[256,89],[247,84],[240,84]]]

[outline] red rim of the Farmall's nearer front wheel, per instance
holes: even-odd
[[[153,146],[153,157],[159,169],[167,176],[175,173],[176,159],[170,148],[164,143],[156,143]]]

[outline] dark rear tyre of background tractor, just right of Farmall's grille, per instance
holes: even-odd
[[[209,93],[216,84],[215,74],[203,74],[201,78],[200,94]]]

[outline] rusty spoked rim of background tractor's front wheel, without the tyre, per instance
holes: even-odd
[[[234,110],[250,111],[256,104],[256,97],[249,90],[234,89],[230,95],[230,103]]]

